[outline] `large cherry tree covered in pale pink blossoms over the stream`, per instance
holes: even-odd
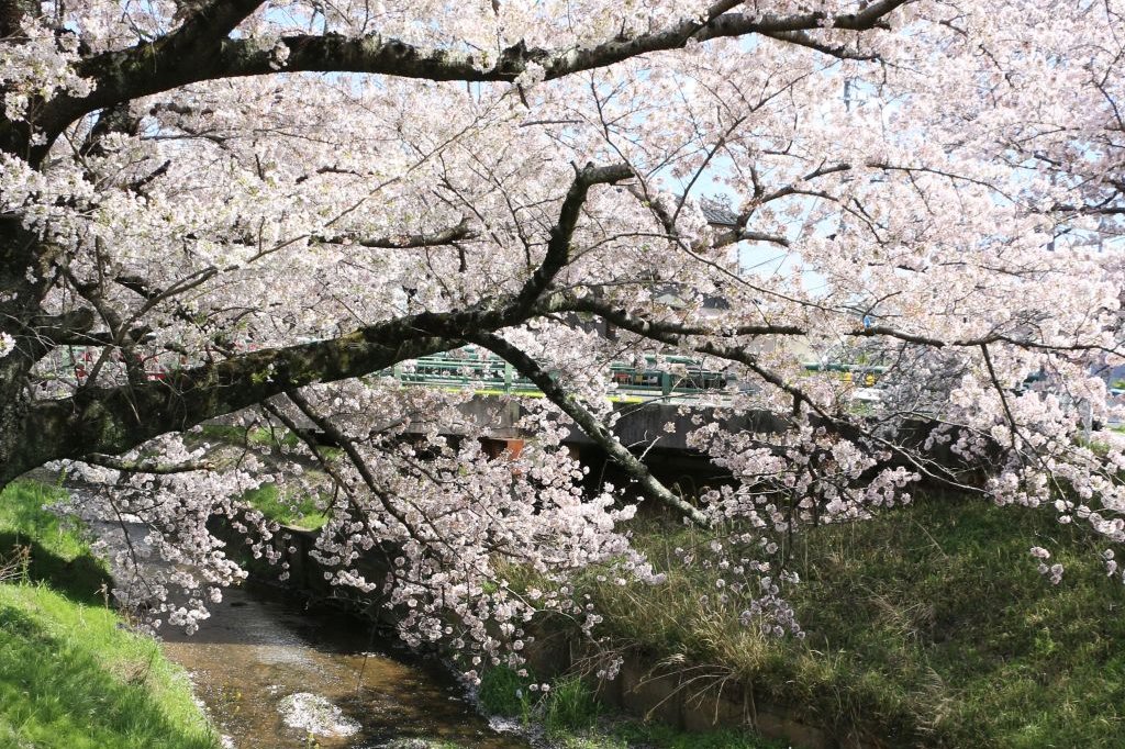
[[[324,496],[334,581],[478,660],[536,608],[596,624],[577,569],[658,579],[638,496],[730,529],[708,553],[778,633],[786,538],[918,480],[1120,542],[1123,10],[0,2],[0,485],[102,487],[76,509],[153,529],[179,566],[145,585],[196,592],[163,605],[189,628],[241,574],[209,518],[274,556],[238,497]],[[380,374],[469,344],[546,396],[519,455],[482,451],[471,391]],[[864,349],[874,408],[802,367]],[[736,383],[690,436],[732,477],[702,497],[613,436],[610,364],[670,353]],[[216,446],[218,417],[285,439]],[[636,490],[584,488],[572,428]]]

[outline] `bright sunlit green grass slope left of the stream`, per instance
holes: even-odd
[[[26,575],[0,584],[0,747],[212,749],[187,676],[123,629],[108,580],[74,530],[40,509],[40,485],[0,495],[0,558],[30,545]]]

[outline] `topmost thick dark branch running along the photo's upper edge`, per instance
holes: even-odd
[[[809,34],[825,28],[868,30],[885,25],[885,18],[910,0],[881,0],[857,13],[822,11],[791,16],[752,16],[729,10],[739,3],[724,0],[711,7],[701,20],[685,20],[666,29],[632,38],[614,38],[590,47],[529,49],[522,42],[504,49],[488,65],[464,52],[422,49],[406,42],[374,34],[360,38],[336,35],[290,35],[278,49],[252,38],[227,38],[227,34],[260,4],[255,0],[215,2],[192,15],[173,34],[155,42],[94,55],[78,65],[78,73],[94,82],[83,97],[63,94],[42,109],[38,125],[47,143],[32,152],[40,161],[50,144],[72,121],[89,112],[199,81],[287,72],[353,72],[417,78],[433,81],[513,82],[531,64],[554,80],[573,73],[605,67],[638,55],[677,49],[688,42],[763,34],[828,54],[834,47],[819,44]],[[702,21],[702,22],[701,22]],[[795,34],[803,34],[794,38]],[[0,144],[17,150],[19,144]],[[21,150],[21,148],[19,148]]]

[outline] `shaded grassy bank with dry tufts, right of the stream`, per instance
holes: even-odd
[[[1119,747],[1125,586],[1101,548],[1050,513],[929,497],[875,521],[816,529],[792,549],[807,640],[765,639],[720,604],[714,570],[675,562],[706,533],[647,522],[636,542],[665,585],[579,586],[605,632],[655,658],[714,665],[756,698],[837,736],[891,746]],[[1066,567],[1051,586],[1028,554]],[[706,603],[701,603],[708,594]]]

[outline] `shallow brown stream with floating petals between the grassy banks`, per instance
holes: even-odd
[[[370,625],[359,620],[306,612],[261,586],[227,590],[197,633],[166,632],[164,651],[191,674],[197,696],[236,749],[529,746],[493,731],[440,664],[372,642]],[[312,736],[287,725],[279,707],[292,694],[328,700],[356,732]]]

